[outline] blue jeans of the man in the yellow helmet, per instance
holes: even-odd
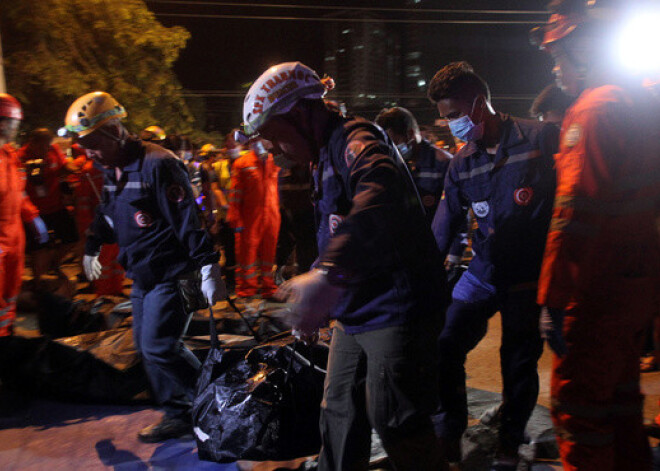
[[[171,416],[188,413],[199,360],[181,340],[192,313],[186,313],[175,281],[146,290],[133,284],[133,341],[142,355],[158,404]]]

